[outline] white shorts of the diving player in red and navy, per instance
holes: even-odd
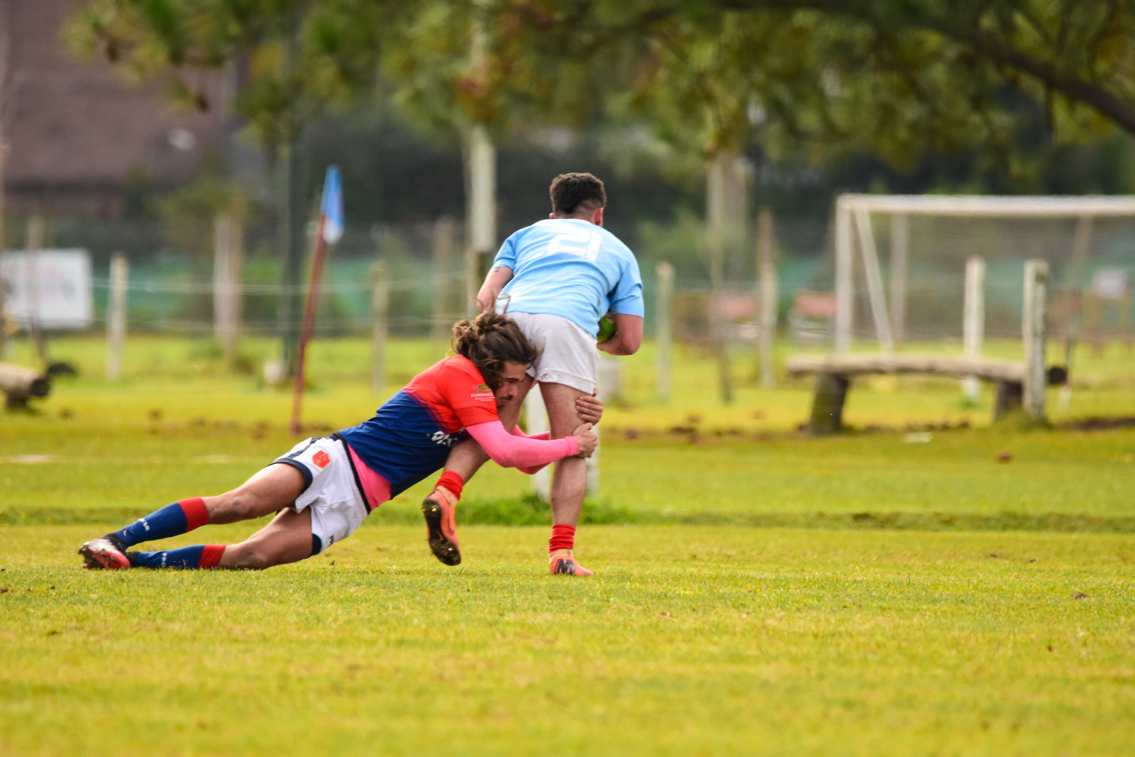
[[[292,511],[311,508],[311,554],[354,533],[370,514],[347,446],[338,435],[301,441],[275,462],[297,469],[308,482]]]

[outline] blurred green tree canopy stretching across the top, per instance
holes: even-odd
[[[210,107],[193,69],[247,72],[236,112],[286,141],[327,104],[498,132],[645,124],[689,154],[1008,157],[1020,102],[1075,141],[1135,134],[1135,0],[93,0],[87,52]]]

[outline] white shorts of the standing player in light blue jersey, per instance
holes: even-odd
[[[562,316],[507,314],[540,351],[536,362],[528,368],[529,376],[537,381],[565,384],[583,394],[595,392],[599,352],[594,336]]]

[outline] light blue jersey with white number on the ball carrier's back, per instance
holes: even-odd
[[[644,313],[634,253],[590,221],[537,221],[505,239],[493,264],[513,271],[497,300],[501,310],[561,316],[591,336],[607,312]]]

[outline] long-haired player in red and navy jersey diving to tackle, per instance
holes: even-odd
[[[381,503],[440,468],[454,443],[476,439],[497,463],[535,470],[595,449],[590,423],[554,440],[506,430],[498,409],[516,398],[537,352],[515,322],[495,312],[454,326],[457,356],[414,377],[373,418],[329,437],[301,441],[241,487],[217,497],[182,499],[120,531],[92,539],[79,554],[85,567],[263,569],[319,554],[347,538]],[[598,420],[597,403],[581,403],[581,415]],[[462,477],[446,471],[427,512],[429,538],[443,562],[461,562],[453,505]],[[271,523],[234,545],[196,545],[158,552],[127,552],[192,531],[207,523],[233,523],[269,513]],[[452,545],[448,552],[437,542]]]

